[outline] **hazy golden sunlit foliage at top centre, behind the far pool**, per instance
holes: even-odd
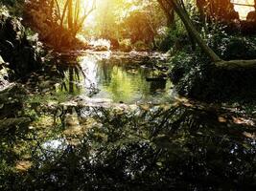
[[[142,48],[145,50],[155,48],[158,30],[165,25],[166,18],[155,0],[107,0],[99,3],[92,27],[84,33],[110,41],[130,39],[131,45],[138,49],[137,42],[143,42],[147,44]]]

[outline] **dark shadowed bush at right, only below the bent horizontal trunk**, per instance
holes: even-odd
[[[255,70],[217,69],[204,54],[175,56],[171,79],[182,96],[203,100],[253,99],[256,91]]]

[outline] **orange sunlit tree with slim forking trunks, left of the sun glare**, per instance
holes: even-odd
[[[40,38],[56,48],[72,46],[96,0],[38,0],[27,2],[25,19]]]

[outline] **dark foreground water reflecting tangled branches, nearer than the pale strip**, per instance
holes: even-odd
[[[58,115],[54,126],[43,122],[53,120],[50,114],[41,115],[37,127],[22,137],[1,138],[5,161],[1,189],[253,190],[256,186],[255,121],[243,114],[190,102],[130,110],[122,105],[64,110],[64,120]],[[30,165],[13,170],[17,160]]]

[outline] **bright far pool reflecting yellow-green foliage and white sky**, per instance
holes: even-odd
[[[159,74],[154,74],[155,69],[145,66],[143,61],[138,64],[138,60],[133,62],[127,58],[95,54],[74,57],[73,60],[61,58],[58,72],[63,73],[64,79],[60,90],[69,94],[110,98],[115,102],[168,100],[172,94],[172,83],[157,78],[154,81],[154,76]],[[148,77],[152,80],[147,80]]]

